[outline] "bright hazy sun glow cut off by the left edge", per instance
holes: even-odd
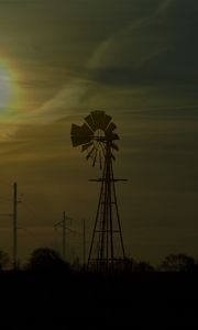
[[[20,89],[16,69],[8,61],[0,58],[0,120],[10,121],[19,112]]]

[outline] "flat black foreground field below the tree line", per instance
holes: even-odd
[[[198,329],[198,274],[1,272],[0,329]]]

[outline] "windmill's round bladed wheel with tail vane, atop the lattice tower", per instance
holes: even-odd
[[[114,143],[119,140],[119,135],[114,133],[117,125],[105,111],[92,111],[84,119],[85,123],[81,127],[72,125],[73,146],[81,146],[81,152],[87,153],[86,160],[91,160],[92,166],[99,163],[100,168],[102,168],[107,144],[113,160],[113,151],[119,151],[118,145]]]

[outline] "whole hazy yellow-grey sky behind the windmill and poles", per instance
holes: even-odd
[[[103,110],[120,136],[114,174],[127,255],[160,263],[198,256],[198,4],[196,0],[0,1],[0,249],[19,258],[87,249],[100,170],[72,146],[72,123]]]

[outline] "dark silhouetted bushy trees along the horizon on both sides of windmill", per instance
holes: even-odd
[[[124,267],[123,267],[124,264]],[[148,262],[135,261],[132,257],[124,260],[124,263],[116,263],[116,268],[124,270],[127,272],[198,272],[198,260],[185,253],[168,254],[157,266]],[[50,248],[35,249],[29,260],[23,265],[18,265],[21,271],[81,271],[86,265],[76,258],[73,263],[64,261],[59,253]],[[0,250],[0,271],[11,268],[11,260],[9,254]]]

